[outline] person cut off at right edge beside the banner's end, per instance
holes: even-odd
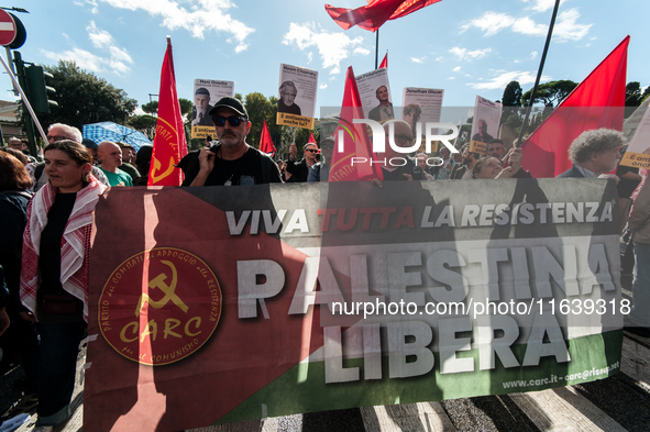
[[[628,225],[635,240],[634,306],[627,331],[650,337],[650,182],[643,181],[635,197]]]

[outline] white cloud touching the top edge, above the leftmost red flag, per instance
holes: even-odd
[[[194,37],[202,40],[206,33],[224,32],[230,34],[227,42],[236,43],[235,53],[245,51],[249,45],[246,37],[255,30],[227,13],[235,8],[230,0],[101,0],[118,9],[130,11],[143,10],[152,16],[162,19],[161,25],[169,30],[185,29]],[[187,4],[188,9],[180,5]]]

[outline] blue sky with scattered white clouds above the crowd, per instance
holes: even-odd
[[[355,8],[364,0],[330,0]],[[172,36],[179,97],[195,78],[233,80],[235,91],[276,95],[279,64],[319,71],[317,107],[341,103],[345,69],[374,68],[375,34],[343,31],[313,0],[56,0],[20,1],[26,62],[77,64],[126,91],[140,104],[158,93],[166,35]],[[442,0],[379,31],[388,49],[396,104],[404,87],[442,88],[445,107],[472,107],[475,96],[502,98],[519,80],[532,87],[553,0]],[[628,81],[650,85],[648,0],[561,3],[543,81],[581,81],[630,35]],[[0,99],[13,100],[2,76]]]

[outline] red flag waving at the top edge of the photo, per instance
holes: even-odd
[[[326,4],[326,11],[343,30],[359,25],[371,32],[386,21],[406,16],[440,0],[368,0],[367,5],[356,9],[334,8]]]

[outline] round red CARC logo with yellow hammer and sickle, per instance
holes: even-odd
[[[120,264],[98,306],[101,334],[118,353],[159,366],[194,354],[210,339],[222,296],[217,277],[199,257],[156,247]]]

